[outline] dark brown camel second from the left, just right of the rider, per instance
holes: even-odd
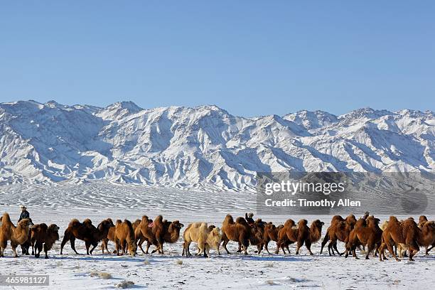
[[[59,240],[59,227],[51,224],[49,227],[45,223],[34,225],[31,228],[32,254],[39,258],[44,247],[45,259],[48,259],[48,251]]]

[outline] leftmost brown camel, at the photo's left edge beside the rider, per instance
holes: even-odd
[[[11,241],[11,248],[12,251],[14,251],[14,257],[18,257],[18,254],[16,254],[16,247],[27,241],[31,225],[33,225],[31,220],[25,218],[15,226],[11,222],[9,214],[3,214],[0,227],[0,257],[4,257],[4,249],[6,249],[8,241]]]

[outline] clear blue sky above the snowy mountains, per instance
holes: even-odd
[[[3,2],[0,102],[435,110],[434,15],[434,1]]]

